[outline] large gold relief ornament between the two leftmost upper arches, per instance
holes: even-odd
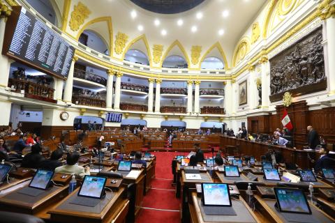
[[[74,6],[71,13],[69,22],[70,29],[72,31],[79,30],[80,26],[84,24],[84,20],[86,20],[90,14],[91,11],[89,8],[87,8],[87,6],[85,6],[81,1],[78,2],[77,6]]]

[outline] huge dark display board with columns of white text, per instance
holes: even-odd
[[[5,36],[3,54],[50,75],[68,76],[75,48],[25,8],[13,7]]]

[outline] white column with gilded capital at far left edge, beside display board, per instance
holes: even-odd
[[[5,36],[5,27],[7,18],[10,16],[11,10],[4,2],[0,1],[0,87],[6,88],[8,86],[8,77],[10,70],[10,63],[12,60],[8,56],[2,54],[3,37]]]

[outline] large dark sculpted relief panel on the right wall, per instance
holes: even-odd
[[[270,59],[270,100],[281,100],[327,88],[322,46],[322,27]]]

